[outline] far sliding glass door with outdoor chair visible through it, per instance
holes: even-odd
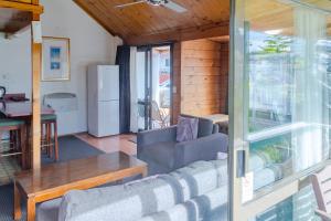
[[[139,128],[167,127],[172,109],[172,46],[141,46],[137,56]]]

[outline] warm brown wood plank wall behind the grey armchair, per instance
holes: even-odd
[[[210,40],[181,43],[181,113],[225,113],[228,51]],[[224,59],[224,61],[223,61]]]

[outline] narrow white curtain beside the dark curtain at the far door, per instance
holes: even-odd
[[[137,48],[130,48],[130,91],[131,91],[131,116],[130,131],[138,131],[138,80],[137,80]]]

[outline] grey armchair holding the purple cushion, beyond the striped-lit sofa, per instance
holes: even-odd
[[[197,139],[191,141],[177,143],[177,126],[140,131],[137,155],[148,164],[149,175],[171,172],[196,160],[216,159],[217,152],[227,152],[227,135],[217,131],[217,126],[205,118],[199,118]]]

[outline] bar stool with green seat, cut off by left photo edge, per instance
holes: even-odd
[[[3,133],[10,134],[9,149],[4,150],[2,143]],[[21,167],[26,169],[26,126],[24,120],[0,118],[0,157],[20,156]]]

